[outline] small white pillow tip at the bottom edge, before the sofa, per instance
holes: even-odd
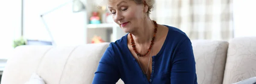
[[[42,79],[38,74],[32,73],[29,81],[27,81],[25,84],[45,84],[44,79]]]

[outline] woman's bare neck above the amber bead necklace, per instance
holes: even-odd
[[[154,35],[154,22],[150,19],[146,19],[143,25],[140,28],[137,28],[137,30],[131,34],[134,38],[135,43],[150,44]]]

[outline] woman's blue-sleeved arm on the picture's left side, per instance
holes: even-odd
[[[113,60],[113,48],[111,45],[99,61],[99,66],[95,72],[92,84],[116,84],[120,79],[118,67]]]

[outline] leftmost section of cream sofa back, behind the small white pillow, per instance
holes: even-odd
[[[1,84],[24,84],[49,49],[50,46],[17,46],[14,56],[9,56],[3,70]]]

